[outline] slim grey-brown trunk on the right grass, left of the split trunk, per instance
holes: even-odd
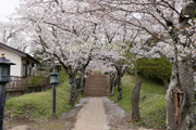
[[[132,121],[139,119],[139,92],[142,87],[142,80],[137,79],[135,87],[132,89]]]

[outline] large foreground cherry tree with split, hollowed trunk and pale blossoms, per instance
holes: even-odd
[[[117,22],[126,23],[146,31],[154,40],[148,54],[164,55],[173,63],[167,91],[167,129],[194,129],[194,78],[195,57],[195,0],[100,0],[98,12]],[[124,20],[122,14],[126,14]],[[137,46],[139,47],[139,46]]]

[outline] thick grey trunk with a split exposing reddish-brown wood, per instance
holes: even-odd
[[[167,130],[194,130],[194,77],[189,58],[173,65],[166,106]]]

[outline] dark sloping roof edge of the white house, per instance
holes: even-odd
[[[38,63],[38,64],[39,64],[39,62],[38,62],[37,60],[35,60],[32,55],[29,55],[29,54],[27,54],[27,53],[25,53],[25,52],[22,52],[22,51],[20,51],[20,50],[17,50],[17,49],[14,49],[14,48],[9,47],[9,46],[7,46],[7,44],[4,44],[4,43],[1,43],[1,42],[0,42],[0,47],[1,47],[1,48],[4,48],[4,49],[8,49],[8,50],[10,50],[10,51],[12,51],[12,52],[17,53],[19,56],[30,58],[30,60],[34,61],[35,63]]]

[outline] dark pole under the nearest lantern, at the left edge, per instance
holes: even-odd
[[[3,130],[5,84],[0,84],[0,130]]]

